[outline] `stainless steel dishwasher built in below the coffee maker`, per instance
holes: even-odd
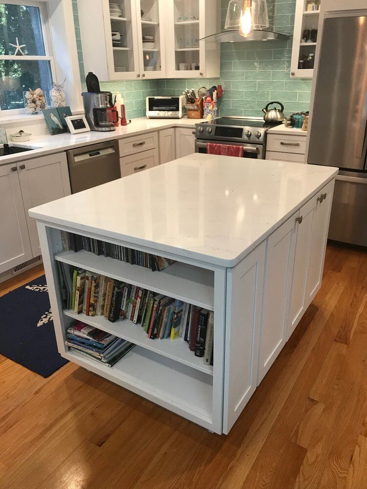
[[[83,146],[67,154],[72,194],[121,178],[117,141]]]

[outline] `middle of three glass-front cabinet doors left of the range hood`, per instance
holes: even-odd
[[[142,78],[165,76],[164,2],[138,0],[139,65]]]

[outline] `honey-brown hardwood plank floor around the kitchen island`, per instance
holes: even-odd
[[[1,489],[366,489],[367,252],[328,246],[319,294],[228,436],[71,363],[44,379],[0,356],[0,391]]]

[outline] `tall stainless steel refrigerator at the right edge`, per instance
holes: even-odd
[[[367,246],[367,11],[327,15],[308,163],[340,168],[329,239]]]

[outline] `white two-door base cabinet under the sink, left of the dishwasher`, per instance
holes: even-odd
[[[70,194],[65,153],[0,167],[0,273],[41,255],[36,221],[28,209]]]

